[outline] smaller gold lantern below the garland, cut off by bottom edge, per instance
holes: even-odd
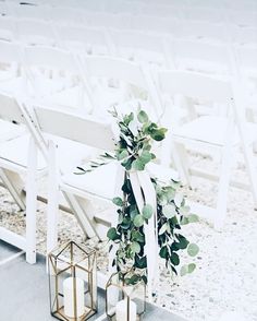
[[[126,285],[127,280],[135,281]],[[137,278],[137,280],[136,280]],[[133,271],[117,272],[106,285],[106,313],[111,321],[138,321],[146,311],[146,285]]]

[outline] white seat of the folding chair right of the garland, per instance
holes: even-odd
[[[173,136],[223,146],[225,142],[228,119],[223,117],[203,116],[174,129]],[[234,135],[233,143],[238,142]]]

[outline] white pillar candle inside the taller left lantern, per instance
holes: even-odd
[[[70,318],[75,318],[73,282],[76,283],[76,317],[81,317],[85,312],[84,282],[79,277],[68,277],[63,281],[63,305],[64,314],[66,314]]]

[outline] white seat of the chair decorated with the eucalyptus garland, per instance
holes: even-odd
[[[157,164],[149,164],[147,170],[151,176],[159,178],[163,182],[167,182],[171,178],[179,181],[178,173],[171,168],[163,168]],[[114,160],[84,175],[75,175],[72,173],[63,175],[61,188],[63,190],[69,190],[70,187],[79,190],[82,193],[112,200],[120,194],[119,187],[122,186],[122,182],[123,174],[121,165]],[[79,192],[77,192],[77,194],[79,194]]]

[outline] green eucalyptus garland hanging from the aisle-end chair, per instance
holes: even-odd
[[[113,203],[118,206],[118,225],[108,230],[108,238],[117,245],[115,259],[112,264],[122,273],[131,269],[133,275],[125,278],[126,284],[136,284],[139,281],[147,283],[147,260],[144,251],[144,227],[154,215],[150,204],[145,204],[139,211],[133,193],[130,171],[144,170],[146,165],[156,158],[151,152],[154,141],[162,141],[167,129],[151,122],[144,110],[136,115],[131,112],[119,116],[114,110],[112,116],[119,126],[119,141],[113,158],[121,162],[125,168],[124,182],[122,186],[123,198],[117,197]],[[109,154],[106,154],[110,157]],[[169,182],[158,181],[152,177],[151,182],[157,194],[157,224],[159,257],[164,260],[166,266],[178,274],[181,251],[195,257],[198,246],[189,243],[182,234],[182,225],[197,222],[196,215],[189,214],[189,207],[184,198],[178,193],[180,182],[170,179]],[[110,250],[113,245],[110,246]],[[181,268],[181,275],[192,273],[195,263],[185,264]],[[125,274],[124,274],[125,275]]]

